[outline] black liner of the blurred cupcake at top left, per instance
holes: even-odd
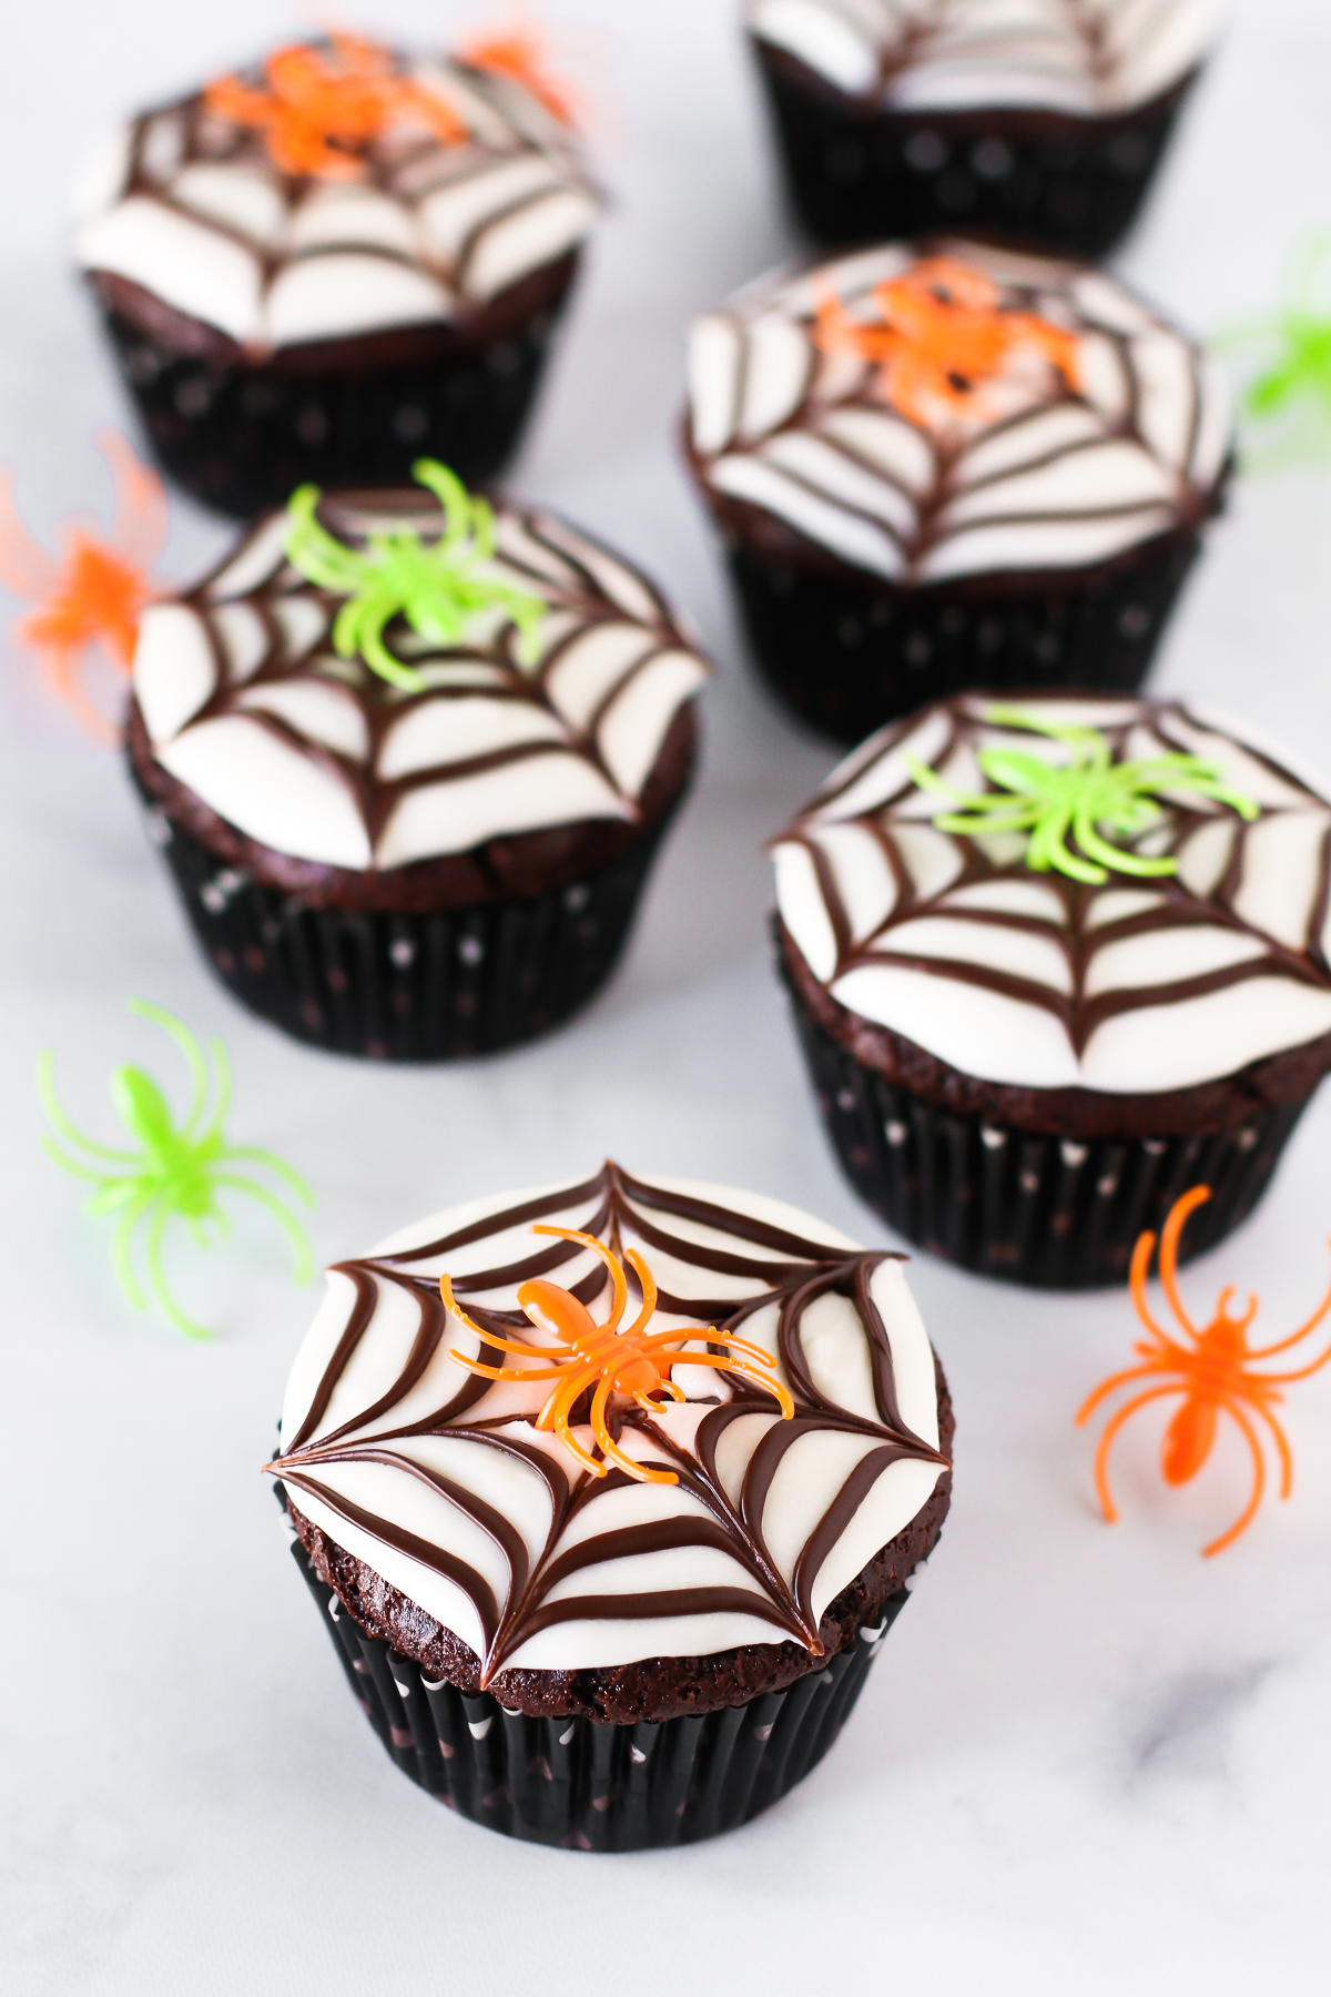
[[[405,485],[417,457],[485,485],[513,455],[563,300],[429,363],[293,373],[182,353],[104,308],[152,455],[192,497],[237,519],[317,485]]]

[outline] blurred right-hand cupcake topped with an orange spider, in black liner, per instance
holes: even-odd
[[[974,244],[776,272],[696,322],[688,375],[754,657],[840,741],[966,687],[1137,687],[1229,473],[1197,345]]]

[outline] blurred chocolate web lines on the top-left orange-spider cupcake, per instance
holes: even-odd
[[[399,72],[405,74],[409,70],[405,56],[395,54],[393,60]],[[253,258],[263,298],[267,298],[275,280],[289,266],[337,254],[365,256],[377,264],[419,270],[445,290],[465,296],[469,272],[487,234],[495,226],[511,222],[513,216],[549,200],[551,194],[577,190],[597,198],[597,190],[581,172],[573,144],[563,142],[555,134],[537,140],[519,130],[513,122],[513,114],[501,106],[495,84],[485,72],[449,62],[439,62],[439,68],[445,74],[453,72],[457,80],[465,84],[467,92],[471,92],[473,98],[479,98],[487,106],[489,114],[505,126],[503,144],[493,138],[481,138],[475,130],[465,140],[449,144],[429,130],[411,130],[407,126],[393,124],[379,136],[371,138],[357,154],[357,164],[361,168],[357,180],[321,182],[303,174],[285,174],[271,160],[259,132],[247,126],[231,124],[231,120],[212,112],[204,92],[196,92],[174,104],[144,112],[134,120],[130,128],[128,168],[118,202],[154,202],[168,214],[182,216],[194,226],[210,230],[222,242],[243,250],[249,258]],[[457,110],[459,118],[463,118],[461,104],[455,106],[449,98],[449,108]],[[176,128],[178,146],[172,150],[170,166],[158,166],[152,156],[154,140],[160,144],[158,134],[172,130],[172,126]],[[431,256],[423,234],[411,250],[395,248],[383,242],[359,240],[329,240],[309,244],[299,250],[273,248],[271,244],[245,234],[245,230],[235,222],[225,222],[210,210],[194,208],[188,200],[182,200],[172,192],[176,178],[186,168],[233,166],[259,174],[267,180],[281,196],[287,218],[295,214],[313,188],[321,186],[367,188],[381,194],[385,200],[395,202],[403,214],[411,218],[415,206],[427,196],[437,194],[443,188],[465,188],[473,180],[481,180],[485,174],[493,172],[497,166],[509,166],[523,158],[549,160],[551,166],[557,168],[559,178],[533,188],[525,196],[499,198],[493,208],[483,212],[471,228],[465,230],[457,250],[449,258]]]

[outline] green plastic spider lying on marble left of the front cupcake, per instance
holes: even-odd
[[[313,1256],[299,1220],[287,1212],[285,1204],[263,1184],[253,1184],[241,1172],[227,1172],[227,1164],[263,1166],[285,1186],[313,1206],[313,1194],[303,1178],[275,1158],[271,1150],[253,1150],[225,1142],[225,1118],[231,1108],[231,1064],[222,1040],[210,1040],[212,1074],[200,1042],[162,1006],[132,998],[130,1010],[140,1018],[150,1018],[164,1032],[170,1032],[190,1066],[190,1108],[186,1120],[176,1128],[172,1106],[142,1068],[116,1068],[112,1074],[112,1100],[130,1136],[138,1140],[138,1150],[108,1150],[74,1128],[56,1098],[54,1060],[50,1048],[38,1058],[38,1092],[56,1136],[42,1138],[42,1144],[66,1172],[88,1178],[98,1188],[88,1200],[90,1214],[120,1214],[116,1228],[116,1274],[136,1310],[146,1310],[148,1300],[138,1280],[132,1258],[134,1230],[148,1222],[148,1242],[144,1264],[154,1296],[172,1324],[188,1338],[212,1338],[214,1334],[194,1324],[172,1296],[162,1268],[162,1238],[172,1218],[184,1220],[200,1248],[212,1246],[208,1222],[218,1224],[218,1232],[227,1234],[229,1222],[218,1206],[218,1192],[245,1192],[257,1200],[285,1230],[295,1250],[295,1280],[313,1278]],[[210,1106],[212,1098],[212,1106]],[[56,1142],[60,1138],[60,1142]],[[68,1146],[68,1150],[62,1148]],[[70,1150],[76,1156],[70,1156]]]

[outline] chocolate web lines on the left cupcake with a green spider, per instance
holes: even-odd
[[[427,539],[443,525],[441,507],[427,499],[419,487],[363,497],[351,493],[327,495],[319,505],[319,517],[355,547],[363,547],[367,541],[365,521],[369,517],[373,517],[379,529],[411,525]],[[190,729],[223,717],[243,717],[253,727],[273,735],[287,749],[293,749],[333,775],[349,791],[365,827],[371,853],[377,853],[393,815],[413,791],[443,783],[465,783],[469,777],[485,771],[517,769],[533,757],[567,757],[591,765],[611,791],[623,799],[633,817],[635,799],[625,797],[611,773],[599,747],[599,729],[617,699],[647,667],[674,651],[696,657],[694,645],[655,585],[639,575],[637,569],[631,571],[619,557],[609,555],[607,549],[597,547],[595,541],[581,535],[571,537],[547,515],[517,507],[503,507],[499,521],[501,531],[505,521],[517,523],[523,535],[539,549],[541,559],[551,565],[547,569],[523,559],[517,551],[501,551],[497,561],[503,571],[543,597],[551,605],[551,615],[563,613],[569,619],[569,629],[545,649],[537,667],[519,663],[521,637],[515,625],[505,625],[489,643],[447,647],[427,645],[411,637],[407,645],[407,625],[397,617],[385,633],[389,651],[395,651],[417,671],[429,673],[431,667],[447,667],[453,677],[443,685],[429,685],[419,693],[403,693],[397,687],[389,687],[359,659],[343,661],[335,657],[329,633],[345,599],[317,589],[303,575],[297,575],[279,553],[273,555],[269,575],[245,591],[245,595],[218,597],[218,581],[225,579],[227,571],[237,563],[243,563],[253,541],[269,531],[269,515],[202,583],[178,599],[196,613],[214,663],[212,693],[190,721],[184,723],[180,735],[188,735]],[[583,559],[579,559],[579,547]],[[643,591],[645,601],[651,605],[651,623],[643,623],[641,615],[631,613],[609,593],[593,567],[597,561],[609,561],[613,569],[625,573],[635,589]],[[553,579],[551,569],[559,579]],[[315,605],[323,623],[321,633],[303,647],[293,647],[287,641],[281,623],[281,607],[293,601]],[[218,611],[229,603],[243,603],[259,619],[265,635],[265,649],[257,667],[239,679],[231,673],[227,647],[216,623]],[[639,655],[613,675],[587,723],[575,727],[559,709],[551,691],[561,663],[589,633],[611,627],[623,629],[627,625],[639,629],[643,635]],[[265,689],[301,685],[333,689],[355,703],[365,731],[363,757],[331,749],[301,733],[281,715],[253,705],[253,697]],[[399,729],[421,707],[467,699],[537,709],[557,725],[559,735],[551,733],[537,741],[509,743],[481,755],[431,763],[403,777],[379,775],[379,761],[391,731]]]

